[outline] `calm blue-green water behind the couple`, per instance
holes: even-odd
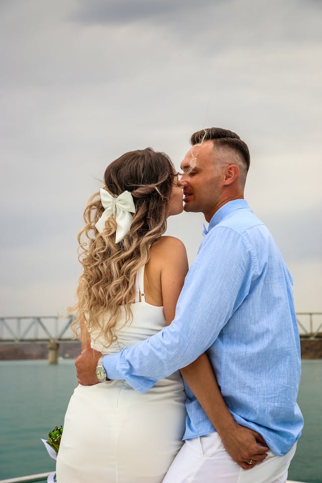
[[[76,385],[74,361],[0,361],[0,479],[52,471],[40,438],[63,423]],[[289,479],[322,483],[322,361],[302,362],[298,402],[305,426]]]

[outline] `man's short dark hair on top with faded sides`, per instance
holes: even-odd
[[[202,129],[201,131],[194,132],[190,138],[192,145],[200,144],[203,141],[213,141],[214,146],[227,146],[237,151],[241,158],[244,160],[249,170],[251,163],[250,151],[246,142],[242,141],[238,134],[229,131],[228,129],[222,129],[221,127],[209,127]]]

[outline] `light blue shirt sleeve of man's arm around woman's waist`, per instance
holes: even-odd
[[[248,295],[254,264],[252,246],[244,236],[231,228],[212,228],[185,279],[172,324],[145,341],[104,356],[108,377],[125,379],[144,392],[197,359]]]

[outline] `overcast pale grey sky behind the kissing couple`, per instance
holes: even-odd
[[[177,168],[218,126],[251,152],[245,197],[322,311],[322,3],[317,0],[2,0],[0,316],[75,302],[76,235],[122,153]],[[190,264],[201,213],[169,218]]]

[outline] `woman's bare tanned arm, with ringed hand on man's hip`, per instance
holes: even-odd
[[[177,300],[188,272],[188,260],[182,242],[176,238],[167,238],[163,246],[161,285],[164,312],[169,325],[175,317]],[[255,462],[265,459],[269,448],[258,433],[234,421],[220,393],[207,355],[199,356],[181,369],[181,373],[232,459],[244,469],[254,466],[247,464],[251,459]]]

